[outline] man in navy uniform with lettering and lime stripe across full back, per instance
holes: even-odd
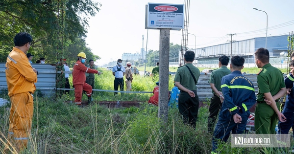
[[[213,133],[211,154],[217,154],[218,140],[226,142],[231,131],[234,134],[245,133],[249,109],[256,103],[254,86],[241,73],[244,62],[243,57],[233,56],[231,73],[221,78],[224,101]]]

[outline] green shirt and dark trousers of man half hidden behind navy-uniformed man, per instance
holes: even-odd
[[[227,66],[221,66],[219,69],[213,70],[210,74],[208,83],[215,84],[215,87],[218,91],[221,91],[221,78],[225,75],[231,73],[231,70]],[[214,125],[216,123],[217,115],[221,110],[221,99],[218,95],[212,90],[213,96],[211,97],[211,103],[209,106],[209,116],[208,116],[208,131],[213,132]]]

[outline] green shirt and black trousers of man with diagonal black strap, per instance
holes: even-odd
[[[186,67],[188,66],[196,78],[196,83]],[[182,91],[179,94],[179,112],[183,115],[183,120],[185,124],[190,124],[192,127],[196,127],[196,120],[199,107],[199,99],[197,95],[196,84],[200,75],[200,71],[197,67],[193,66],[191,63],[187,63],[186,66],[178,67],[174,81],[179,82],[183,87],[192,90],[195,93],[195,97],[191,97],[189,93]]]

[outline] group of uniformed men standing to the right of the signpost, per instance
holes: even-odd
[[[213,70],[209,83],[213,97],[209,106],[208,132],[213,132],[212,154],[217,154],[218,141],[226,142],[230,132],[235,134],[245,133],[246,122],[250,115],[249,109],[257,103],[255,109],[255,130],[257,134],[274,134],[277,120],[279,120],[279,132],[288,133],[294,127],[294,110],[289,101],[294,100],[293,71],[294,61],[290,64],[291,74],[287,79],[292,81],[289,88],[283,113],[280,111],[279,98],[286,94],[283,73],[270,65],[268,49],[259,48],[255,51],[255,63],[261,68],[257,74],[258,94],[255,97],[253,83],[241,72],[245,59],[241,56],[231,58],[230,69],[227,68],[229,58],[225,55],[219,58],[219,69]],[[196,120],[199,107],[197,96],[197,81],[200,75],[198,68],[193,66],[195,53],[186,51],[184,55],[185,66],[180,66],[174,77],[175,86],[180,89],[178,98],[178,110],[183,116],[185,124],[196,129]],[[293,69],[293,70],[292,70]],[[293,102],[294,103],[294,102]],[[288,109],[287,107],[290,108]],[[218,121],[216,123],[218,113]],[[287,112],[287,113],[286,113]],[[290,122],[287,122],[287,119]]]

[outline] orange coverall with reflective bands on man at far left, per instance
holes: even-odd
[[[13,47],[5,64],[9,115],[8,140],[18,150],[26,148],[33,119],[33,93],[36,90],[37,74],[33,71],[25,53]]]

